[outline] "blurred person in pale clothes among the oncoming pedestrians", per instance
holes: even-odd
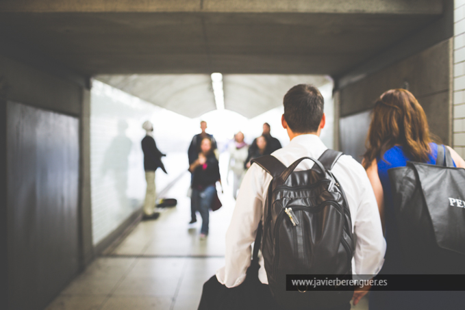
[[[244,175],[244,164],[247,160],[249,146],[244,142],[244,133],[234,135],[234,143],[229,144],[229,171],[233,172],[233,196],[236,199],[240,181]]]

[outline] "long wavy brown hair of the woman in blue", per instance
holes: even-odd
[[[364,168],[377,157],[383,158],[394,145],[403,146],[412,160],[425,162],[431,154],[430,143],[426,114],[414,95],[404,89],[388,90],[377,99],[373,109]]]

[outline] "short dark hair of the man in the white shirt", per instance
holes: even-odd
[[[320,91],[310,84],[299,84],[284,96],[284,119],[295,133],[318,131],[325,101]]]

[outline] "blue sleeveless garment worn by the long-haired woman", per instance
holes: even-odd
[[[445,148],[445,146],[442,146]],[[432,153],[428,156],[426,164],[436,164],[438,157],[438,144],[431,143]],[[445,151],[444,151],[445,153]],[[384,192],[384,225],[386,229],[386,255],[382,273],[399,274],[409,273],[403,266],[401,259],[401,248],[399,244],[399,235],[397,233],[397,224],[394,216],[394,207],[392,202],[391,185],[388,176],[390,168],[407,166],[410,159],[403,151],[402,146],[393,146],[384,153],[384,160],[377,158],[378,175],[381,180]],[[455,163],[454,163],[455,167]]]

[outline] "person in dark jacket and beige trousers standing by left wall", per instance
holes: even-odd
[[[155,193],[155,170],[162,168],[163,172],[166,173],[164,168],[162,157],[166,156],[160,152],[153,139],[153,125],[147,120],[142,125],[142,128],[147,131],[147,135],[142,139],[142,151],[144,152],[144,170],[145,180],[147,181],[147,192],[145,193],[144,201],[144,219],[155,219],[160,216],[158,212],[155,212],[155,201],[157,196]]]

